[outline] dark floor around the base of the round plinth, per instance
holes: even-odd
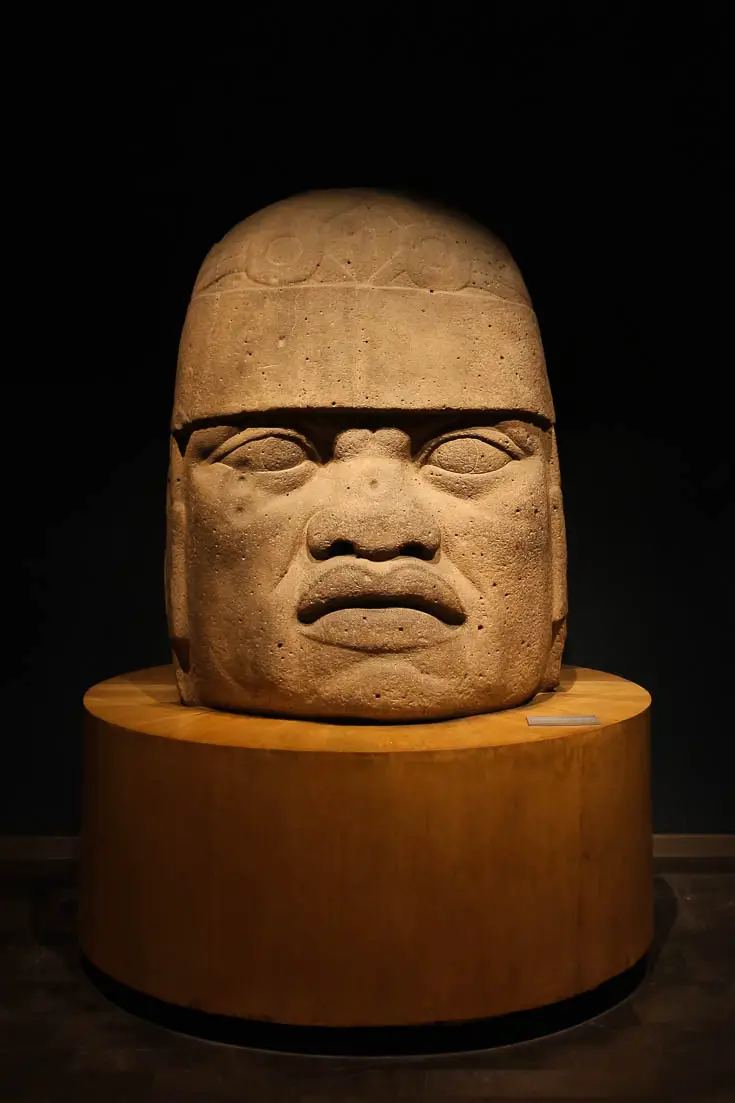
[[[290,1056],[177,1035],[83,973],[70,863],[0,867],[2,1103],[735,1101],[735,864],[659,863],[647,978],[536,1041],[393,1058]]]

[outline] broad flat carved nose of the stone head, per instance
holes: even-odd
[[[307,544],[315,559],[352,555],[382,563],[413,556],[428,561],[439,550],[439,529],[419,510],[380,515],[324,510],[309,522]]]

